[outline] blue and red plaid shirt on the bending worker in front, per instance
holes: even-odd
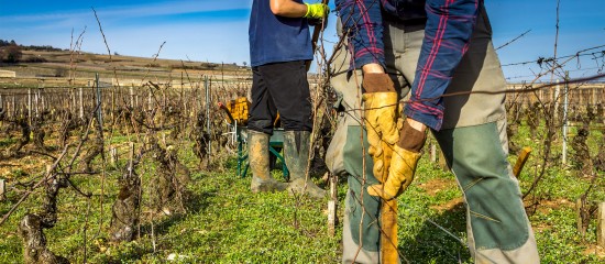
[[[352,48],[352,67],[385,67],[383,14],[407,20],[426,18],[425,38],[411,86],[408,118],[440,130],[441,96],[469,47],[483,0],[337,0],[337,10]]]

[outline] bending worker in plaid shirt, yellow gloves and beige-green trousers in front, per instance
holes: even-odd
[[[336,4],[346,44],[336,51],[331,81],[344,111],[327,164],[349,182],[343,263],[383,260],[380,237],[387,232],[381,232],[380,207],[414,179],[427,130],[464,194],[474,261],[539,263],[506,160],[505,95],[497,92],[506,82],[483,0]],[[363,112],[356,111],[362,102]],[[405,256],[405,245],[399,254]]]

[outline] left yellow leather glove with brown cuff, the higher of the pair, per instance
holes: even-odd
[[[397,92],[387,74],[365,74],[363,77],[364,120],[374,161],[374,176],[384,183],[388,173],[393,146],[399,139],[397,125]]]

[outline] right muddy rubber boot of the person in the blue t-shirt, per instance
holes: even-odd
[[[290,194],[307,194],[311,198],[321,199],[327,191],[319,188],[307,177],[307,162],[309,158],[309,131],[284,132],[284,158],[290,173]]]

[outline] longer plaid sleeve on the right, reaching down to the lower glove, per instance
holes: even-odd
[[[466,53],[482,0],[427,0],[427,25],[414,84],[408,118],[440,130],[443,121],[441,96],[455,67]]]

